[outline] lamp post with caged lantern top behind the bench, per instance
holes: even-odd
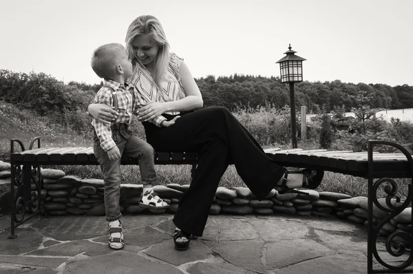
[[[293,148],[297,148],[297,136],[296,136],[296,123],[295,123],[295,92],[294,83],[303,81],[303,68],[302,63],[306,59],[295,55],[295,51],[291,50],[291,44],[288,45],[288,51],[284,58],[279,59],[276,63],[279,63],[279,71],[281,83],[290,84],[290,109],[291,109],[291,135]]]

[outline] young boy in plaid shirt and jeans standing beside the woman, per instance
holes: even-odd
[[[132,75],[132,63],[123,45],[109,43],[97,48],[91,61],[92,69],[103,78],[103,87],[97,92],[93,103],[115,107],[118,117],[114,123],[101,123],[95,118],[94,154],[103,171],[105,182],[105,211],[109,222],[109,248],[123,249],[122,223],[120,222],[120,158],[123,153],[138,158],[142,178],[143,195],[140,206],[166,209],[169,205],[153,192],[151,183],[156,180],[153,156],[154,150],[144,140],[133,135],[128,129],[132,114],[145,104],[136,88],[125,81]],[[151,120],[158,127],[169,127],[175,120],[168,121],[163,116]]]

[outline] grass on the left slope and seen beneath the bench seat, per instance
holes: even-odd
[[[21,111],[13,105],[0,101],[0,160],[8,161],[10,158],[10,139],[18,138],[26,149],[35,136],[41,136],[41,147],[89,147],[92,140],[79,136],[70,129],[64,129],[59,125],[49,125],[47,118],[39,118],[32,112]],[[300,144],[304,149],[315,149],[315,143]],[[19,145],[15,151],[19,151]],[[81,178],[102,178],[100,169],[91,166],[66,166],[58,167],[67,174],[77,175]],[[140,183],[138,167],[122,167],[124,183]],[[180,166],[156,166],[158,172],[158,184],[178,183],[189,184],[191,179],[191,167]],[[407,180],[401,181],[400,195],[405,196]],[[237,175],[235,167],[231,166],[224,174],[220,186],[234,187],[245,186]],[[362,178],[355,178],[339,173],[326,172],[323,184],[318,191],[335,191],[347,193],[351,196],[366,196],[367,184]]]

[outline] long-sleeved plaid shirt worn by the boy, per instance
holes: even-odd
[[[127,123],[130,125],[132,114],[138,114],[138,109],[140,108],[139,106],[142,103],[145,103],[145,101],[143,101],[142,97],[138,94],[138,91],[134,85],[127,82],[125,82],[125,85],[122,85],[111,80],[104,80],[103,87],[100,87],[99,91],[96,93],[93,103],[105,104],[109,105],[109,107],[114,107],[112,89],[109,87],[112,87],[112,89],[116,91],[116,97],[118,99],[119,116],[113,123]],[[160,127],[160,123],[162,123],[163,120],[167,120],[167,118],[164,116],[158,116],[153,120],[149,120],[149,122]],[[116,146],[114,140],[112,139],[112,130],[110,129],[112,124],[110,122],[101,123],[93,118],[92,125],[100,140],[100,147],[102,147],[104,151],[108,151],[109,149],[112,149],[112,147]]]

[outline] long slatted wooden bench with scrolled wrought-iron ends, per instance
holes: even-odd
[[[14,145],[18,143],[21,151],[14,152]],[[36,148],[34,148],[36,145]],[[390,145],[399,149],[401,153],[380,154],[373,152],[374,145]],[[41,148],[39,137],[34,138],[28,150],[25,150],[23,143],[18,139],[10,142],[10,162],[12,166],[11,192],[14,197],[12,207],[11,235],[14,238],[15,227],[22,224],[39,212],[40,189],[41,189],[41,165],[98,165],[92,147],[47,147]],[[381,207],[377,201],[378,186],[385,178],[412,178],[413,160],[407,150],[393,142],[370,140],[368,151],[328,151],[326,149],[265,149],[266,154],[273,158],[279,165],[284,167],[298,167],[310,169],[322,169],[336,173],[348,174],[368,179],[368,273],[376,273],[372,268],[372,256],[384,266],[394,271],[402,271],[411,262],[406,262],[402,266],[388,266],[380,261],[375,247],[375,241],[379,235],[379,229],[372,224],[373,203]],[[138,165],[138,161],[127,156],[123,156],[122,165]],[[198,155],[194,152],[156,152],[156,165],[192,165],[192,172],[198,163]],[[22,170],[21,170],[22,167]],[[33,172],[33,171],[36,172]],[[22,176],[21,176],[22,174]],[[377,182],[373,179],[379,178]],[[389,179],[392,180],[392,179]],[[34,187],[33,183],[34,182]],[[413,179],[412,179],[413,181]],[[14,191],[16,187],[16,191]],[[388,189],[389,196],[396,194],[396,189]],[[391,213],[386,220],[390,221],[395,215],[409,206],[413,198],[413,187],[409,186],[409,194],[401,207],[395,209],[383,209]],[[25,211],[31,213],[25,218]],[[413,216],[412,216],[413,217]],[[379,228],[380,228],[379,224]],[[412,231],[413,232],[413,231]],[[413,235],[413,233],[411,234]],[[377,272],[379,273],[379,272]]]

